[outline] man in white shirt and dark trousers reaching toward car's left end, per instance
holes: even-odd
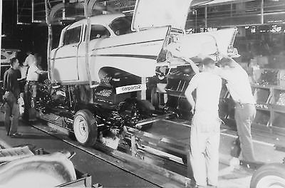
[[[47,71],[41,71],[38,68],[38,55],[35,54],[34,61],[29,65],[28,74],[26,77],[26,101],[24,118],[26,120],[35,120],[35,104],[36,104],[36,88],[38,85],[38,77]]]

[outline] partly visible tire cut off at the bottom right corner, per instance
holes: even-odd
[[[284,188],[285,165],[274,163],[260,167],[252,176],[250,188]]]

